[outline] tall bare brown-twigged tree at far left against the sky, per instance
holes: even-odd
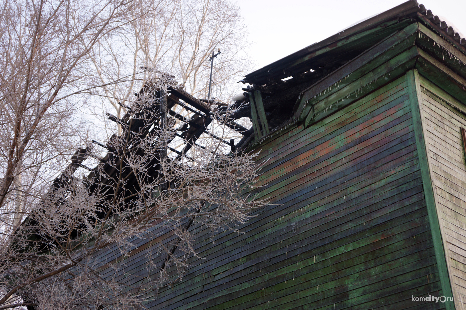
[[[23,207],[82,140],[75,112],[84,98],[73,94],[86,87],[89,51],[127,22],[131,3],[20,0],[1,7],[0,208],[2,231],[10,231],[11,212],[18,224]]]

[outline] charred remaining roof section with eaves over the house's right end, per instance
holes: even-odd
[[[434,42],[443,43],[442,46],[436,46]],[[413,46],[415,50],[411,51]],[[391,48],[395,50],[388,52]],[[351,79],[347,80],[347,75],[357,70],[361,71],[363,66],[366,68],[371,66],[371,70],[375,69],[376,63],[382,60],[379,56],[384,53],[385,58],[389,57],[389,54],[390,57],[398,57],[398,54],[404,53],[409,60],[409,63],[404,63],[403,68],[399,67],[396,72],[391,72],[393,68],[387,63],[388,68],[384,70],[386,73],[393,73],[390,79],[410,69],[425,70],[419,66],[426,57],[450,68],[445,69],[446,71],[451,71],[453,68],[453,71],[458,71],[461,77],[466,78],[466,68],[461,65],[466,63],[466,59],[461,60],[466,54],[465,38],[461,38],[452,26],[440,20],[430,10],[426,10],[422,4],[418,4],[416,0],[409,0],[247,74],[242,82],[249,83],[253,87],[243,88],[247,96],[246,102],[250,102],[251,99],[255,101],[255,97],[259,100],[252,102],[251,107],[243,107],[251,111],[255,131],[247,140],[245,137],[245,141],[240,141],[239,146],[253,147],[260,144],[260,141],[274,136],[274,132],[284,126],[306,119],[304,115],[307,115],[310,106],[317,113],[315,105],[319,100],[316,97],[323,99],[329,95],[332,87],[338,88],[345,83],[353,82],[356,76],[352,75]],[[452,59],[447,59],[444,54],[450,55]],[[459,59],[459,62],[454,64],[453,58]],[[377,66],[386,61],[380,62]],[[370,62],[374,66],[370,65]],[[381,76],[374,78],[376,81],[374,85],[377,85],[377,79],[380,78]],[[345,81],[343,82],[342,79]],[[458,84],[455,79],[448,83]],[[377,87],[381,87],[381,84],[378,83]],[[371,91],[376,89],[373,86],[369,88],[372,89]],[[359,90],[356,88],[357,94]],[[356,99],[356,95],[351,100]],[[462,95],[458,92],[458,96]],[[323,104],[323,102],[319,103],[318,106],[322,107]],[[336,109],[342,108],[344,104],[349,104],[349,101],[341,99],[338,105],[333,105],[331,108],[322,107],[322,110],[327,111],[324,114],[328,114],[328,110],[336,112]],[[258,117],[255,117],[253,112]],[[309,117],[313,121],[316,120],[314,116]],[[309,121],[309,119],[305,121],[306,126],[309,125]]]

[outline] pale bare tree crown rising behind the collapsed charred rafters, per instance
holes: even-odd
[[[135,19],[141,11],[147,14]],[[247,29],[240,8],[229,0],[138,0],[131,18],[124,31],[100,40],[92,56],[98,82],[109,84],[97,94],[110,102],[118,118],[125,112],[118,102],[124,105],[130,100],[133,87],[139,86],[134,81],[148,76],[147,72],[138,74],[140,67],[169,72],[187,92],[207,98],[208,59],[213,50],[221,49],[215,59],[213,94],[226,100],[232,97],[232,82],[236,85],[251,64],[244,53]],[[112,83],[128,77],[127,83]]]

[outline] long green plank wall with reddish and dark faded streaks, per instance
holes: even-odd
[[[147,307],[445,308],[411,301],[442,291],[407,85],[399,78],[260,145],[256,191],[274,205],[215,244],[196,231],[204,258]]]

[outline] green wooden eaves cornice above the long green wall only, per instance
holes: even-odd
[[[407,70],[404,64],[418,55],[412,48],[417,34],[418,25],[411,24],[304,90],[296,102],[294,118],[305,120],[308,125],[317,114],[322,114],[322,110],[325,110],[324,114],[329,114],[329,110],[335,112],[364,93],[395,79],[397,75],[394,74]],[[414,66],[414,61],[410,66]]]

